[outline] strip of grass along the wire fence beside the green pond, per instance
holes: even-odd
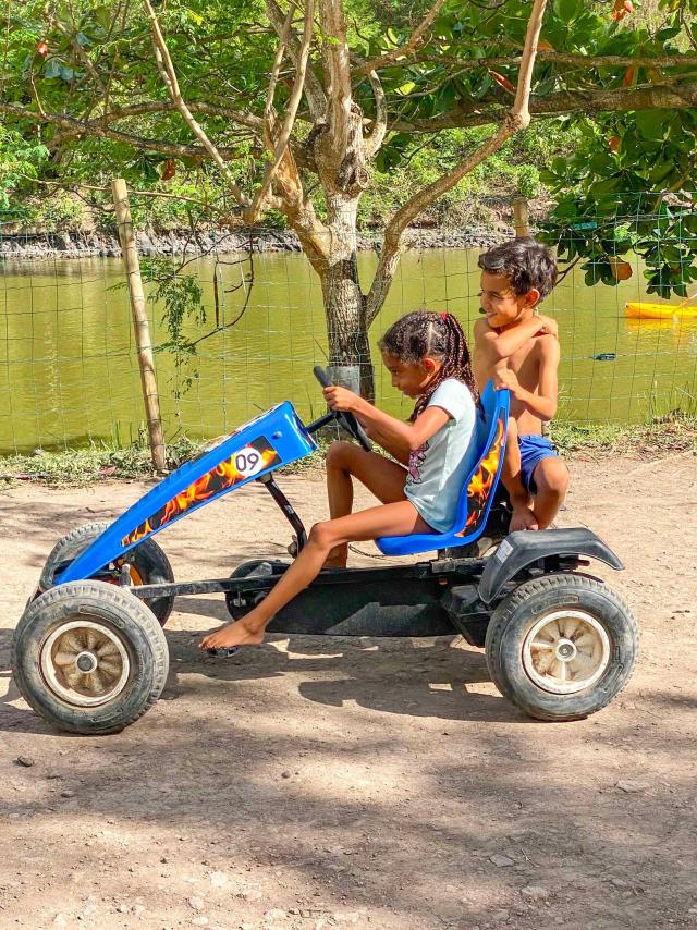
[[[671,452],[697,454],[697,416],[669,414],[648,424],[553,423],[550,438],[560,454],[573,460],[620,452],[640,455],[667,455]],[[286,475],[307,475],[323,469],[325,452],[331,438],[321,438],[319,450],[299,462],[286,466]],[[205,442],[178,439],[167,446],[168,468],[174,470],[196,455]],[[0,481],[5,487],[21,482],[38,482],[51,488],[84,487],[106,480],[136,480],[156,477],[147,445],[135,443],[110,448],[107,444],[63,452],[40,452],[32,455],[10,455],[0,458]]]

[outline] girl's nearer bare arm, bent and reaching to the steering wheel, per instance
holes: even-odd
[[[431,436],[436,436],[450,419],[448,411],[432,406],[426,407],[414,423],[404,423],[378,409],[353,391],[335,384],[325,388],[325,399],[332,411],[350,411],[355,414],[367,427],[368,436],[375,438],[387,452],[404,464],[408,461],[409,452],[419,449]],[[395,454],[398,452],[399,455]]]

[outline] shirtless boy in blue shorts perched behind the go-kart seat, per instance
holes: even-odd
[[[474,327],[474,371],[511,391],[511,417],[501,480],[511,498],[511,530],[543,529],[561,506],[568,472],[542,423],[557,413],[557,323],[537,311],[554,286],[557,264],[533,238],[516,238],[479,257],[481,308]]]

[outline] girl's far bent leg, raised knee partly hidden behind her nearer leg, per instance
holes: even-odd
[[[327,497],[329,516],[347,516],[353,509],[353,477],[356,477],[383,504],[406,500],[402,465],[366,452],[353,442],[332,442],[327,452]],[[328,568],[345,568],[348,555],[346,543],[337,546],[327,559]]]

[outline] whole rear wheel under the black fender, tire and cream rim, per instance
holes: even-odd
[[[626,685],[639,631],[629,608],[587,575],[525,582],[493,611],[486,652],[499,690],[538,720],[579,720]]]

